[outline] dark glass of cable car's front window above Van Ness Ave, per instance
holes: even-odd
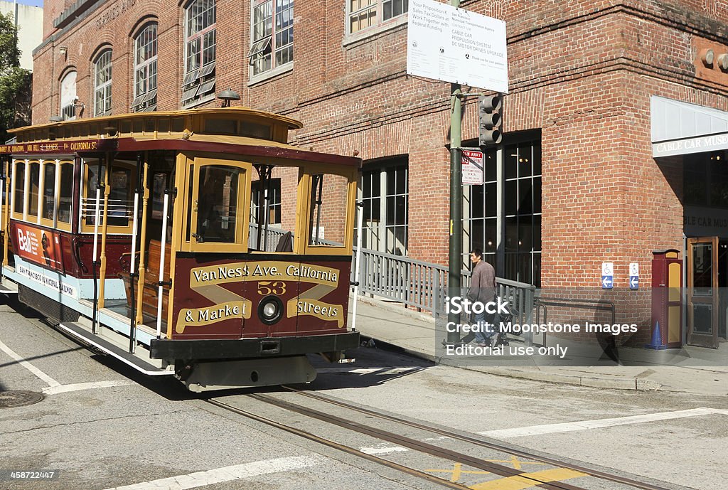
[[[199,169],[197,242],[236,241],[242,174],[240,168],[222,165],[205,165]]]

